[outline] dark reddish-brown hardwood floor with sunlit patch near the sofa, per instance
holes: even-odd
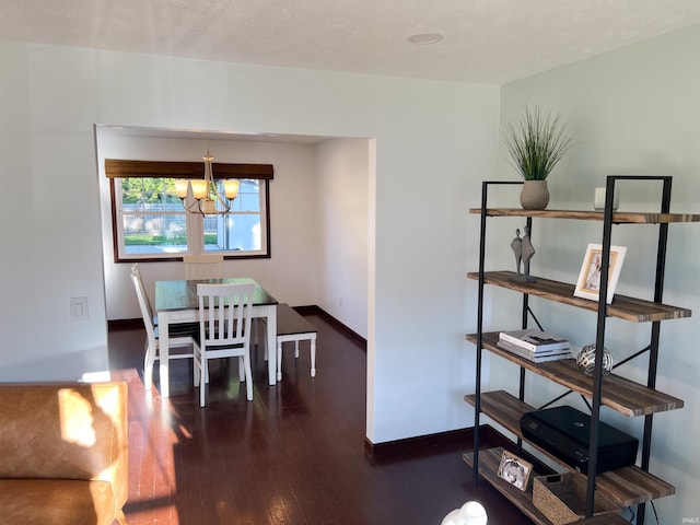
[[[451,510],[479,500],[489,525],[529,521],[488,483],[471,485],[462,460],[470,443],[365,453],[366,354],[318,315],[317,375],[307,342],[283,378],[267,384],[255,352],[254,400],[237,364],[213,363],[206,408],[191,384],[191,361],[171,364],[171,398],[145,392],[142,329],[113,329],[113,376],[129,382],[130,525],[439,525]]]

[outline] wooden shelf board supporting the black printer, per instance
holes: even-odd
[[[476,396],[464,397],[469,405],[476,406]],[[504,390],[489,392],[481,394],[481,412],[503,425],[510,432],[527,441],[521,432],[521,417],[525,412],[535,410],[535,407],[521,401]],[[532,444],[532,443],[530,443]],[[560,463],[552,454],[546,450],[532,444],[535,448]],[[479,452],[479,465],[481,464],[481,452]],[[561,464],[571,469],[569,466]],[[481,471],[481,467],[479,467]],[[610,470],[596,476],[596,487],[604,491],[612,501],[620,506],[631,506],[646,501],[664,498],[674,494],[676,489],[656,476],[642,470],[635,465],[630,467]],[[517,489],[516,489],[517,490]]]

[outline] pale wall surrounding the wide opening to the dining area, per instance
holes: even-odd
[[[371,137],[368,438],[468,424],[464,334],[475,313],[464,273],[476,264],[476,231],[466,210],[495,168],[498,86],[13,43],[0,54],[0,85],[12,96],[2,102],[2,177],[27,190],[0,208],[3,253],[13,254],[0,277],[0,362],[20,365],[3,369],[5,380],[52,375],[47,355],[96,349],[106,362],[95,124]],[[19,209],[28,214],[21,236]],[[69,319],[77,295],[89,300],[88,322]],[[46,329],[32,328],[37,315]]]

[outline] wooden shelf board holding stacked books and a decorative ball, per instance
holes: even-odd
[[[467,335],[466,339],[475,345],[477,343],[476,334]],[[502,349],[498,346],[498,331],[485,332],[482,346],[490,352],[508,359],[530,372],[592,398],[593,377],[585,375],[573,359],[534,363]],[[606,407],[630,417],[676,410],[684,406],[682,399],[653,388],[648,388],[644,385],[640,385],[639,383],[616,374],[609,374],[604,377],[600,402]]]

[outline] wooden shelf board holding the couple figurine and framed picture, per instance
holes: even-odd
[[[598,311],[597,301],[575,298],[573,295],[575,289],[573,284],[552,281],[541,277],[538,277],[536,282],[511,281],[510,278],[515,275],[516,273],[514,271],[505,270],[487,271],[483,273],[483,282],[487,284],[506,288],[509,290],[515,290],[521,293],[536,295],[558,303],[569,304],[591,312]],[[479,273],[475,271],[467,273],[467,277],[469,279],[479,280]],[[612,303],[607,305],[607,315],[633,323],[645,323],[690,317],[691,311],[678,306],[654,303],[652,301],[628,298],[616,293],[612,299]]]

